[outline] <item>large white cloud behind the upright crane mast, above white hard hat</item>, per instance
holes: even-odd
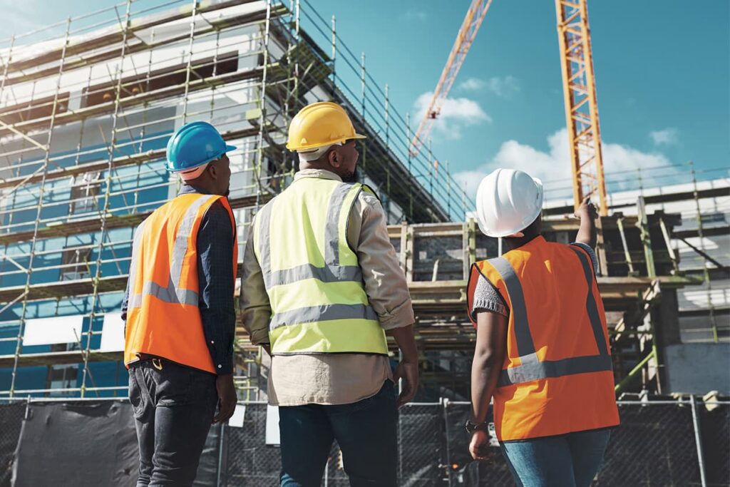
[[[548,147],[548,151],[543,151],[517,140],[507,140],[487,164],[476,170],[458,172],[454,177],[459,182],[466,183],[466,193],[473,199],[480,180],[493,169],[520,169],[529,172],[531,176],[539,177],[545,183],[546,198],[570,197],[572,176],[567,129],[551,134],[548,137]],[[615,182],[611,185],[613,189],[628,188],[633,179],[626,174],[612,177],[612,173],[670,165],[669,160],[661,153],[645,153],[621,144],[603,142],[602,154],[607,183],[611,185],[612,180]],[[666,168],[662,177],[671,175],[672,172],[676,171]]]

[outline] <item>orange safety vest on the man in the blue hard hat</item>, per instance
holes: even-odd
[[[219,200],[233,226],[235,281],[236,221],[224,196],[182,194],[155,210],[134,232],[124,343],[127,367],[143,353],[216,373],[198,308],[196,242],[205,213]]]

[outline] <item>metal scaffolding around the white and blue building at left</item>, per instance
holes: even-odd
[[[127,0],[12,37],[0,72],[0,396],[126,394],[124,377],[98,386],[94,364],[116,361],[120,375],[118,350],[100,346],[105,317],[126,286],[134,227],[179,189],[164,159],[183,123],[208,120],[239,147],[230,202],[241,245],[253,212],[296,170],[289,120],[318,100],[342,104],[368,136],[362,180],[391,222],[466,210],[430,153],[408,154],[408,117],[388,86],[305,1]],[[67,315],[83,317],[76,340],[24,346],[28,322]],[[244,389],[257,353],[239,347]]]

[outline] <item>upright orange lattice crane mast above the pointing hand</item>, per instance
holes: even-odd
[[[597,196],[599,213],[608,214],[601,153],[596,81],[586,0],[556,0],[565,119],[575,207]]]

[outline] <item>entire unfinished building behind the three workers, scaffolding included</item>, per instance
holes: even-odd
[[[448,425],[445,401],[469,399],[469,267],[499,242],[477,231],[447,164],[411,150],[411,121],[388,85],[306,0],[153,3],[130,0],[0,46],[0,399],[126,397],[120,304],[131,240],[180,188],[164,169],[176,129],[206,120],[238,147],[229,199],[242,258],[251,216],[296,171],[289,120],[333,100],[368,137],[362,178],[388,214],[417,317],[417,399],[441,404]],[[661,169],[646,185],[639,173],[607,173],[599,288],[617,391],[677,394],[686,405],[685,394],[730,394],[730,179],[723,166],[686,166],[672,180]],[[569,185],[548,182],[544,211],[546,237],[566,243],[577,231],[572,202],[559,198]],[[267,361],[240,327],[237,337],[239,399],[253,411],[266,399]],[[698,377],[698,363],[715,365]],[[434,467],[449,485],[451,455]],[[223,457],[218,483],[242,485],[236,475],[247,474]]]

